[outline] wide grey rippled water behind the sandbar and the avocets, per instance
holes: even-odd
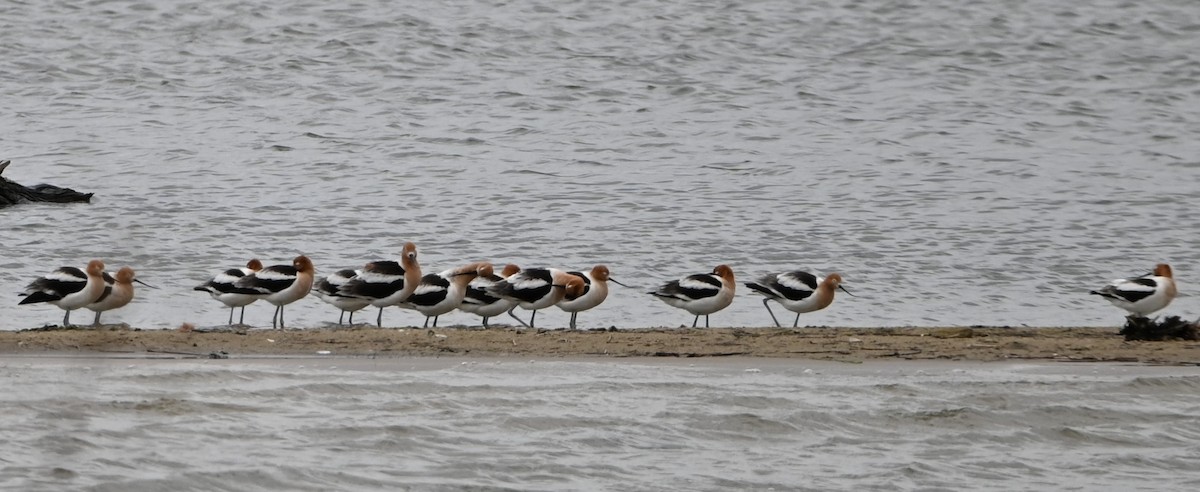
[[[719,263],[844,274],[808,324],[1117,325],[1088,289],[1198,275],[1196,46],[1192,0],[8,1],[5,175],[96,198],[0,211],[0,314],[58,323],[14,294],[102,258],[160,287],[106,320],[221,324],[216,271],[410,240],[608,264],[637,289],[586,328],[690,322],[642,290]]]

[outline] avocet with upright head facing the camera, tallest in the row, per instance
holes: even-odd
[[[406,242],[398,262],[367,263],[338,293],[365,299],[378,307],[376,325],[383,326],[383,308],[408,300],[420,283],[421,265],[416,263],[416,245]]]

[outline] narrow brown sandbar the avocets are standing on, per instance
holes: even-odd
[[[857,362],[1062,360],[1200,365],[1200,342],[1127,342],[1117,328],[726,328],[538,331],[504,328],[0,331],[0,354],[174,356],[762,356]]]

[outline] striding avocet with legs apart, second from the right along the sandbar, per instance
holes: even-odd
[[[828,277],[821,278],[800,270],[766,275],[757,282],[745,282],[745,286],[756,294],[766,296],[762,305],[767,307],[767,313],[775,322],[775,326],[780,326],[779,319],[775,319],[775,313],[770,311],[767,301],[779,302],[787,311],[796,313],[796,322],[792,323],[792,328],[796,328],[800,324],[800,313],[829,307],[833,304],[834,290],[841,289],[850,294],[850,290],[841,287],[841,275],[829,274]]]

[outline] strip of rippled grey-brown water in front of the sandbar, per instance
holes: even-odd
[[[787,360],[0,362],[11,490],[1200,487],[1172,367]]]

